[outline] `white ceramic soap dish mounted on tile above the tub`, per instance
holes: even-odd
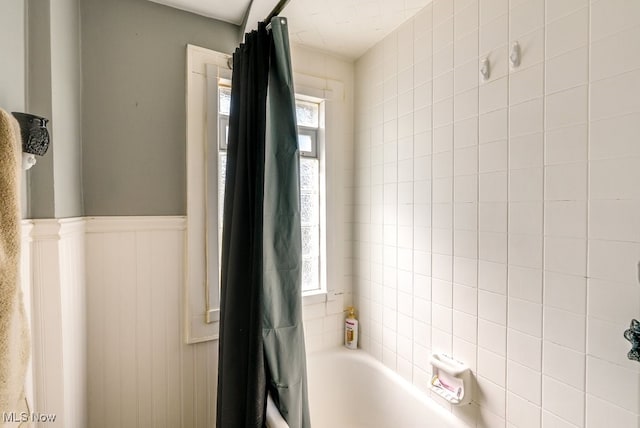
[[[446,354],[431,356],[431,390],[451,404],[471,402],[471,370],[463,362]]]

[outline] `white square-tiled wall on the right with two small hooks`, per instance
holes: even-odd
[[[356,63],[356,134],[381,137],[354,258],[413,280],[356,286],[363,347],[421,388],[430,352],[466,360],[469,426],[640,427],[638,4],[434,0]]]

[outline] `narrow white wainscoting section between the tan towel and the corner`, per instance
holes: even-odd
[[[56,415],[46,426],[87,426],[84,234],[82,219],[23,222],[32,337],[26,390],[33,412]]]

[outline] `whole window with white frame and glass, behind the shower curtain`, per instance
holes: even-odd
[[[186,57],[183,333],[186,343],[197,343],[218,338],[220,211],[224,199],[220,193],[224,191],[231,70],[230,57],[224,53],[189,45]],[[344,150],[352,133],[342,119],[350,110],[342,82],[298,73],[294,73],[294,79],[301,152],[302,291],[305,304],[316,304],[335,299],[345,280],[342,266],[348,254],[342,245],[346,232],[342,201],[348,180],[347,157],[352,154]],[[332,125],[326,127],[325,121]],[[327,230],[331,234],[324,233]]]

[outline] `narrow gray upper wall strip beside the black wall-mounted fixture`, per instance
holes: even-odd
[[[83,214],[79,0],[28,0],[28,103],[51,146],[29,171],[31,218]]]

